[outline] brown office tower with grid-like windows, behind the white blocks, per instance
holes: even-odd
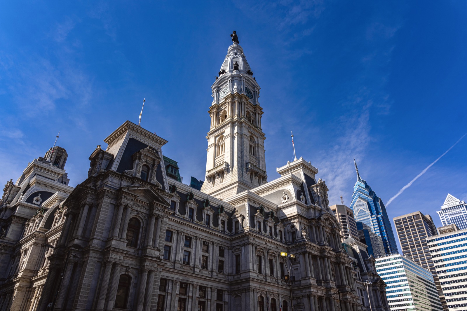
[[[430,270],[435,280],[443,309],[447,310],[443,290],[439,284],[430,250],[426,244],[426,238],[437,234],[432,217],[428,214],[424,215],[422,212],[413,212],[394,217],[394,223],[404,255],[408,255],[415,263]]]

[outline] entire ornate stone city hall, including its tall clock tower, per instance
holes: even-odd
[[[318,169],[300,157],[268,181],[260,86],[231,36],[201,190],[162,155],[168,141],[130,121],[90,150],[75,188],[58,146],[7,182],[0,311],[389,311]]]

